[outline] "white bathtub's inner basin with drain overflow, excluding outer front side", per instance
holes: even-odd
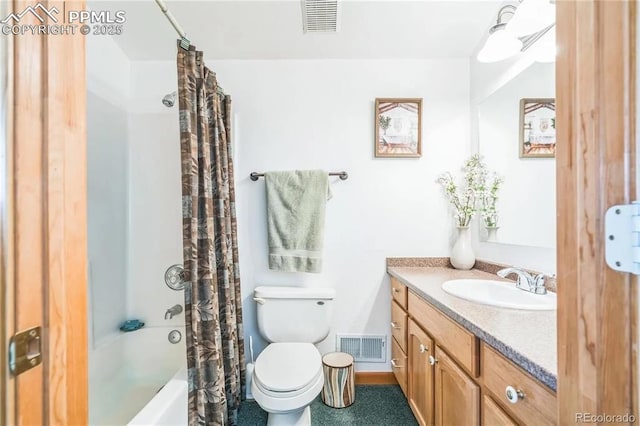
[[[182,341],[175,345],[167,339],[172,330],[183,334]],[[161,388],[164,390],[167,382],[184,376],[184,372],[182,376],[176,372],[185,368],[183,325],[151,326],[114,334],[89,354],[89,424],[126,425]],[[186,380],[183,382],[186,385]],[[183,400],[186,414],[186,396]],[[182,424],[186,422],[172,423]]]

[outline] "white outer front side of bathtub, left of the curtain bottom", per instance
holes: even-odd
[[[178,371],[127,426],[187,424],[187,372]]]

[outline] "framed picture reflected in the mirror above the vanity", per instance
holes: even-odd
[[[556,100],[520,100],[520,158],[556,156]]]

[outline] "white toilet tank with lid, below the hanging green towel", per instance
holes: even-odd
[[[269,342],[318,343],[329,335],[335,290],[256,287],[258,329]]]

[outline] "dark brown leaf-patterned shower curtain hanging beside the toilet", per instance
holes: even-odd
[[[231,98],[178,47],[189,425],[235,425],[244,392]]]

